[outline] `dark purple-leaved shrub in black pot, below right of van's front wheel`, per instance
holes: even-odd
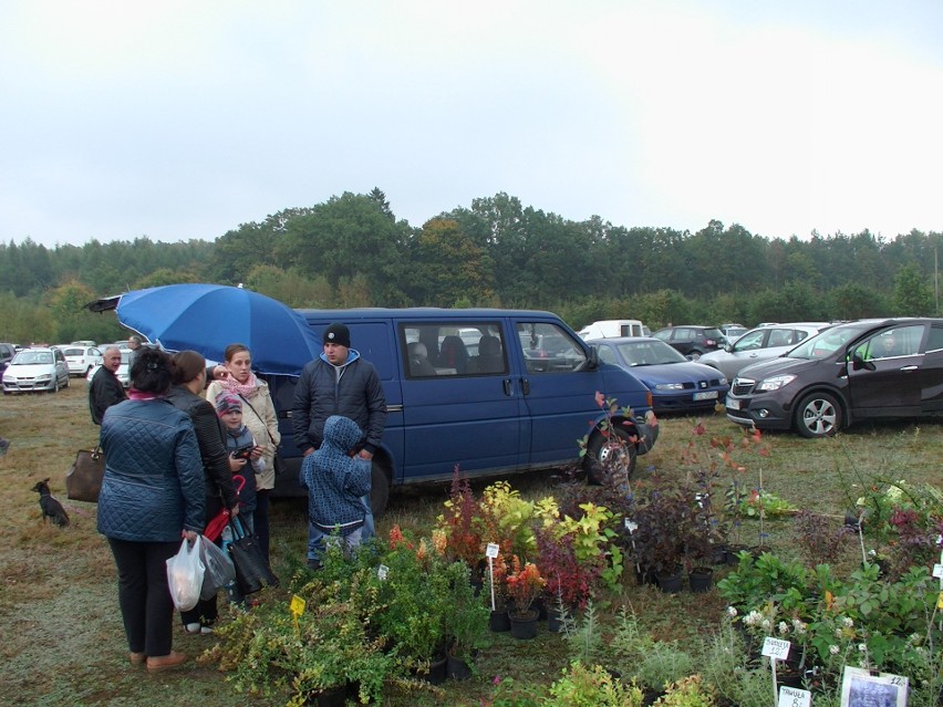
[[[683,581],[683,560],[691,501],[684,488],[661,482],[640,501],[633,533],[640,571],[652,572],[664,592],[677,592]]]

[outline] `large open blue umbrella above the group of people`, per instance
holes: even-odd
[[[252,368],[298,375],[321,353],[321,342],[293,309],[265,294],[225,284],[168,284],[118,298],[124,326],[168,351],[198,351],[224,361],[226,346],[246,344]]]

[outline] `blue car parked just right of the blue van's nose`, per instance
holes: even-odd
[[[629,371],[652,392],[655,414],[713,410],[729,389],[716,368],[694,363],[665,342],[644,336],[591,339],[600,363]]]

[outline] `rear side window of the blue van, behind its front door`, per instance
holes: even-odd
[[[457,326],[455,322],[400,325],[403,371],[407,378],[506,374],[500,323]]]

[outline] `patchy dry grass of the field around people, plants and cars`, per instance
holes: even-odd
[[[709,416],[704,423],[708,436],[740,435],[723,415]],[[639,476],[653,470],[684,474],[681,459],[695,439],[693,426],[694,420],[688,418],[662,420],[659,444],[640,459]],[[11,440],[9,453],[0,457],[0,475],[10,500],[0,530],[0,651],[4,665],[0,694],[8,699],[15,696],[15,704],[37,706],[276,704],[235,693],[211,666],[189,662],[184,669],[149,676],[127,664],[114,564],[104,539],[95,531],[96,507],[65,500],[64,475],[75,450],[96,440],[84,381],[73,380],[72,387],[58,395],[3,396],[0,436]],[[939,420],[856,427],[827,440],[766,435],[764,443],[770,455],[749,461],[745,472],[748,482],[758,486],[761,472],[766,490],[819,512],[843,514],[863,487],[882,480],[935,485],[941,480],[943,425]],[[39,497],[30,490],[44,478],[50,478],[53,495],[64,502],[72,518],[64,530],[43,523]],[[529,475],[512,481],[525,496],[541,497],[552,490],[553,478]],[[388,511],[377,522],[379,531],[385,533],[393,523],[417,531],[429,528],[446,497],[443,486],[394,493]],[[790,520],[770,521],[764,530],[768,533],[766,544],[791,555],[795,543],[790,541]],[[757,524],[750,521],[744,528],[744,541],[756,544],[758,533]],[[303,505],[274,503],[272,538],[276,570],[287,573],[303,557]],[[850,543],[849,562],[857,551],[857,544]],[[723,611],[716,592],[663,595],[650,586],[635,586],[632,580],[626,580],[621,595],[608,599],[608,612],[631,603],[645,626],[664,638],[708,631]],[[196,656],[213,645],[213,636],[194,637],[177,631],[175,648],[188,655]],[[385,704],[479,705],[489,695],[496,675],[549,683],[566,664],[561,638],[546,630],[536,641],[493,636],[491,646],[480,656],[478,678],[447,685],[437,694],[401,695],[391,690]]]

